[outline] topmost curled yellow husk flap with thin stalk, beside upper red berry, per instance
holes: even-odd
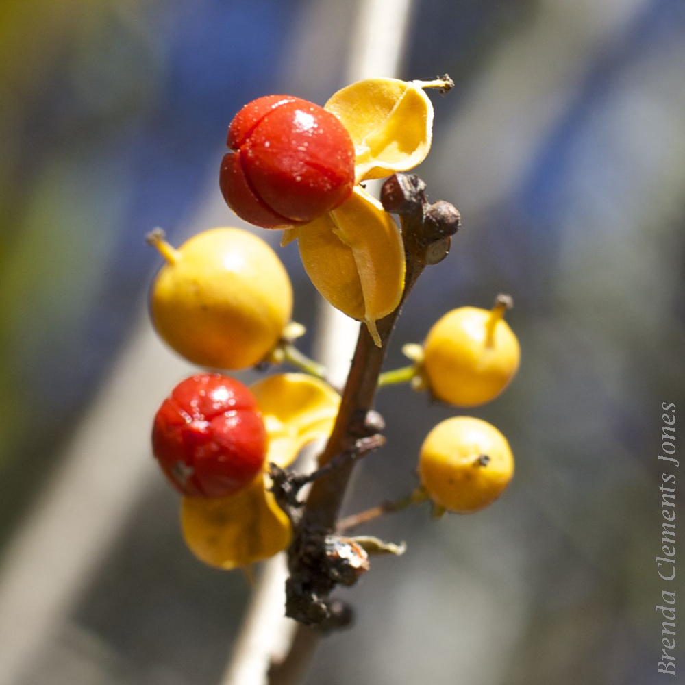
[[[430,149],[433,105],[423,88],[445,82],[364,79],[338,90],[325,104],[345,125],[356,152],[356,182],[421,164]]]

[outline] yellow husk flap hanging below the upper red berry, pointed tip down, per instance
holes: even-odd
[[[302,263],[321,295],[364,321],[380,346],[375,322],[390,314],[404,289],[404,245],[397,223],[362,188],[338,208],[297,229]]]

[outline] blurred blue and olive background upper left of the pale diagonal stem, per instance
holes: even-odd
[[[230,117],[275,87],[294,7],[1,3],[5,525],[129,329],[157,263],[142,236],[175,237],[214,182]]]

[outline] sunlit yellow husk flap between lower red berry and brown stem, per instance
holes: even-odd
[[[305,445],[330,435],[340,395],[327,383],[306,373],[279,373],[254,383],[250,390],[269,435],[267,466],[288,466]]]

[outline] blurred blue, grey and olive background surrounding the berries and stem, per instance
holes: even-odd
[[[0,3],[1,682],[218,684],[249,586],[186,550],[150,455],[191,367],[147,320],[161,260],[143,236],[240,225],[217,183],[229,121],[345,85],[359,5]],[[456,82],[432,95],[417,171],[463,228],[388,368],[447,310],[509,292],[521,371],[469,413],[508,437],[516,478],[477,516],[369,525],[408,552],[345,593],[356,627],[306,685],[657,682],[656,453],[662,402],[685,399],[685,4],[416,0],[402,65]],[[311,330],[297,247],[279,256]],[[388,444],[347,512],[407,493],[455,413],[409,388],[378,408]]]

